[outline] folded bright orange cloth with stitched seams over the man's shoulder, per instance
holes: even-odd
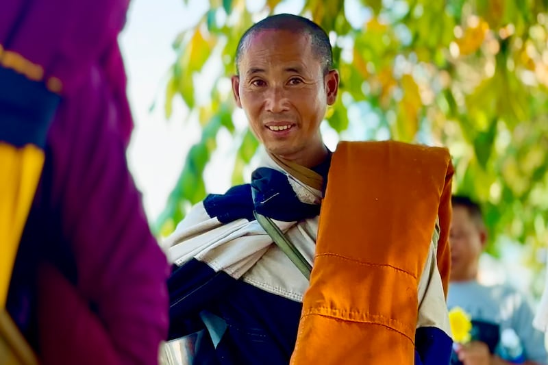
[[[447,149],[338,144],[291,364],[414,364],[417,288],[437,218],[447,295],[452,175]]]

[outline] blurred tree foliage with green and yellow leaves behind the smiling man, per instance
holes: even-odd
[[[201,21],[175,40],[166,116],[181,97],[203,132],[157,231],[171,231],[203,199],[202,174],[221,129],[239,145],[232,182],[244,180],[258,143],[234,123],[227,85],[240,35],[279,12],[279,3],[210,0]],[[493,242],[501,235],[532,253],[548,242],[547,0],[300,3],[300,14],[326,29],[334,45],[340,98],[326,121],[340,138],[445,145],[456,166],[455,191],[484,205],[491,253],[497,255]],[[217,64],[218,74],[209,97],[198,101],[196,86],[208,64]]]

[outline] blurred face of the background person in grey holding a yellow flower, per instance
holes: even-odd
[[[486,242],[486,232],[473,221],[465,207],[453,207],[449,243],[451,244],[451,281],[473,280]]]

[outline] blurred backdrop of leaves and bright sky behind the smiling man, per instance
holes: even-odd
[[[136,121],[129,164],[158,236],[206,193],[247,181],[258,144],[232,101],[239,36],[292,12],[329,30],[340,139],[447,146],[453,191],[482,204],[480,280],[538,299],[548,243],[548,2],[133,0],[121,46]]]

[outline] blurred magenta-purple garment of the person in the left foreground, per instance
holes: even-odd
[[[42,364],[157,364],[166,338],[169,266],[125,159],[132,118],[116,36],[126,8],[0,1],[3,49],[64,85],[8,294]]]

